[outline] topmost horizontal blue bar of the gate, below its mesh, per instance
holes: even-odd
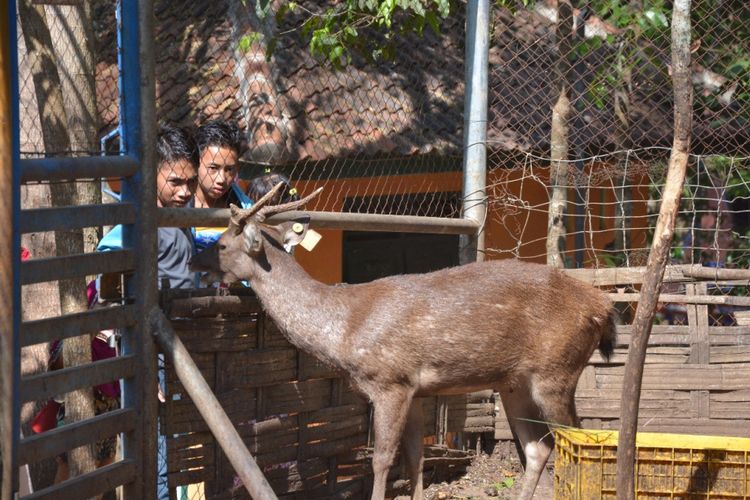
[[[34,158],[21,160],[21,182],[62,182],[130,177],[138,162],[129,156]]]

